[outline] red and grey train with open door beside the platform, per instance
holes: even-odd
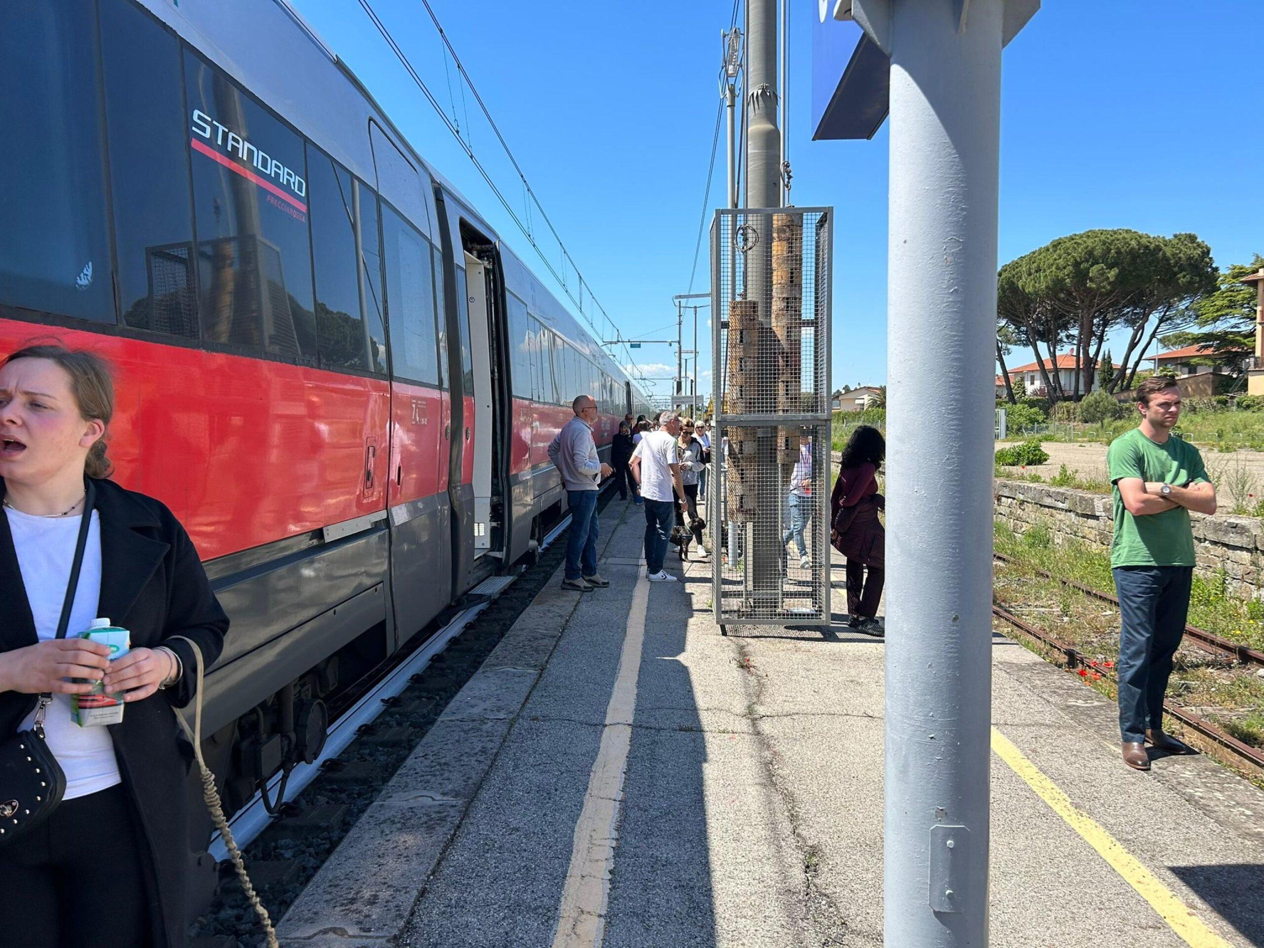
[[[14,0],[0,87],[0,353],[116,368],[115,477],[233,619],[235,809],[533,552],[575,394],[603,456],[647,399],[284,0]]]

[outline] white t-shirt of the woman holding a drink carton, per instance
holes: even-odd
[[[62,617],[66,584],[75,561],[81,517],[33,517],[5,507],[9,530],[27,586],[27,600],[35,619],[35,632],[43,642],[57,637],[57,621]],[[83,547],[83,565],[75,589],[75,604],[66,636],[71,638],[92,624],[101,597],[101,517],[92,511],[92,523]],[[29,731],[35,720],[32,712],[19,726]],[[81,728],[71,720],[71,696],[54,694],[44,713],[44,741],[66,772],[63,800],[87,796],[120,781],[119,761],[114,742],[105,727]]]

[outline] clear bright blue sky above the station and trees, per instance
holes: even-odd
[[[359,4],[293,3],[413,145],[547,279]],[[886,128],[872,142],[810,140],[817,4],[791,3],[791,200],[837,209],[833,379],[836,387],[881,383]],[[674,335],[671,297],[690,288],[719,101],[719,34],[732,0],[431,4],[605,311],[624,336]],[[521,212],[521,186],[473,97],[463,101],[425,8],[418,0],[373,6]],[[1193,231],[1221,265],[1264,250],[1259,9],[1258,0],[1047,1],[1005,52],[999,263],[1090,228]],[[722,133],[712,207],[723,193]],[[709,289],[705,239],[693,289]],[[699,327],[705,372],[705,311]],[[669,346],[633,355],[651,377],[675,369]],[[1015,353],[1012,360],[1030,359]],[[699,389],[710,389],[709,375]]]

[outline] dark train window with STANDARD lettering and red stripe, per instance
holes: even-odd
[[[185,52],[202,339],[315,362],[302,139]]]

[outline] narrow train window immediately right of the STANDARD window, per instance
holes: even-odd
[[[320,364],[326,369],[367,369],[368,337],[355,265],[351,176],[312,145],[307,147],[307,173],[311,176]]]

